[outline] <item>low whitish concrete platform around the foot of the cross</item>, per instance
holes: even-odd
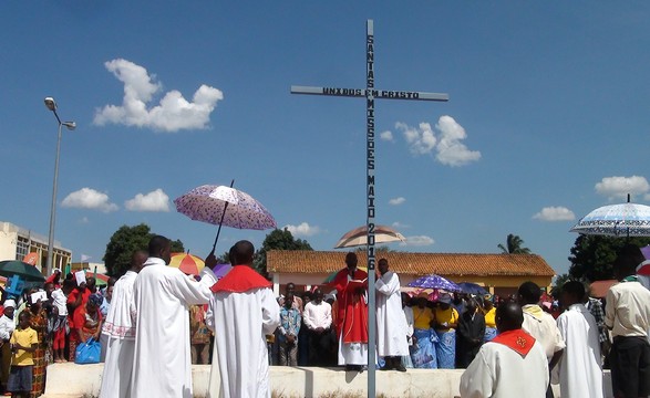
[[[100,394],[103,364],[52,364],[48,367],[47,398],[91,398]],[[409,369],[406,373],[376,371],[376,395],[384,398],[458,396],[463,369]],[[210,376],[209,365],[193,367],[195,397],[207,397]],[[270,370],[274,398],[301,397],[365,397],[368,373],[345,373],[341,368],[280,367]],[[605,373],[607,397],[611,395],[609,371]],[[556,398],[559,386],[554,386]]]

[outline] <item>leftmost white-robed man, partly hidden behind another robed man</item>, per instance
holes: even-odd
[[[136,315],[133,284],[146,259],[145,251],[134,252],[131,256],[131,269],[115,282],[111,308],[102,326],[102,334],[106,336],[106,360],[100,398],[131,396]]]

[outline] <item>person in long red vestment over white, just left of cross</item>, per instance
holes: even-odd
[[[357,269],[357,253],[345,255],[347,268],[331,282],[337,290],[336,328],[339,338],[339,365],[361,371],[368,365],[368,273]]]

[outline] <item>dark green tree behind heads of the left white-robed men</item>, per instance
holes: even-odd
[[[122,226],[113,233],[106,252],[104,253],[104,264],[106,273],[111,276],[122,276],[131,266],[131,255],[136,250],[147,250],[149,240],[154,233],[151,232],[149,226],[141,223],[140,226]],[[172,252],[184,252],[180,240],[172,241]]]

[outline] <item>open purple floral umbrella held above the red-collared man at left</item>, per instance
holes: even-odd
[[[233,181],[235,182],[235,181]],[[250,195],[226,186],[204,185],[174,200],[176,210],[193,220],[219,226],[213,252],[219,239],[221,226],[265,230],[277,228],[269,211]]]

